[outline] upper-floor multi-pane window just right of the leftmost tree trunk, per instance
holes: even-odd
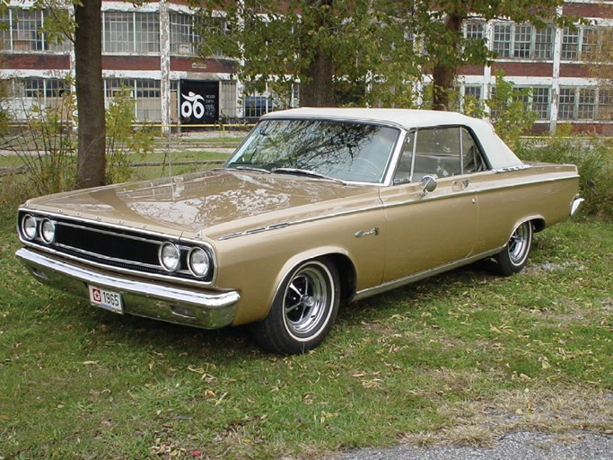
[[[104,12],[102,21],[104,52],[160,51],[160,18],[157,13]]]

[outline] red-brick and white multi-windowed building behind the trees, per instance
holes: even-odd
[[[69,42],[51,43],[40,32],[47,13],[32,11],[28,1],[10,4],[0,18],[5,22],[2,77],[11,82],[19,118],[32,104],[52,105],[68,90],[64,78],[74,71],[74,54]],[[110,101],[119,91],[129,91],[137,119],[207,124],[256,119],[276,107],[270,94],[250,93],[237,80],[232,60],[196,56],[201,37],[183,2],[102,4],[105,96]],[[488,97],[495,70],[501,69],[515,85],[531,89],[537,130],[571,122],[582,130],[613,134],[613,91],[600,87],[585,65],[585,57],[600,46],[602,28],[613,26],[613,1],[569,1],[563,12],[582,16],[589,25],[537,30],[513,22],[465,22],[467,37],[486,38],[498,58],[493,66],[463,68],[460,96]],[[298,86],[291,106],[299,105]]]

